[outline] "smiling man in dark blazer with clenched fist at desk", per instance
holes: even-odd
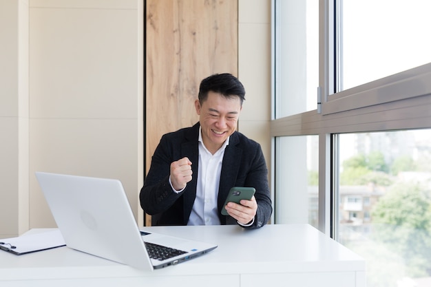
[[[162,136],[140,191],[154,225],[239,224],[259,228],[272,213],[268,169],[260,145],[236,131],[245,90],[231,74],[200,83],[199,123]],[[231,187],[254,187],[251,200],[229,202]]]

